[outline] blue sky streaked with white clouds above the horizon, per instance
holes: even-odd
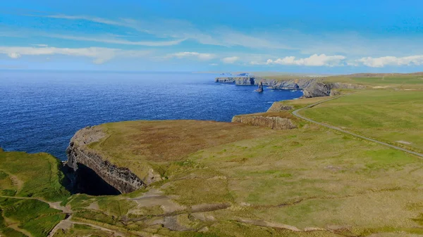
[[[423,71],[420,0],[0,1],[0,70]]]

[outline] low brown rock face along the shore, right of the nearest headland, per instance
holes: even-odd
[[[236,115],[232,122],[241,122],[258,127],[270,127],[275,130],[295,129],[297,125],[286,117],[265,116],[265,115]]]

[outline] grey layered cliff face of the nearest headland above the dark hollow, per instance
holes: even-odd
[[[78,175],[78,164],[85,165],[121,193],[130,193],[145,186],[145,183],[130,172],[130,169],[112,165],[102,158],[102,155],[87,147],[105,135],[97,127],[87,127],[78,131],[66,149],[68,155],[66,165],[73,169],[76,175]]]

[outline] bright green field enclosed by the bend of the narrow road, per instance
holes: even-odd
[[[301,112],[397,146],[423,151],[422,91],[362,91]]]

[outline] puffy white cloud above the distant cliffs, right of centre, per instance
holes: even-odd
[[[288,56],[285,58],[278,58],[276,60],[268,59],[266,65],[302,65],[302,66],[341,66],[344,65],[345,56],[326,56],[325,54],[314,54],[308,58],[295,58],[295,56]]]

